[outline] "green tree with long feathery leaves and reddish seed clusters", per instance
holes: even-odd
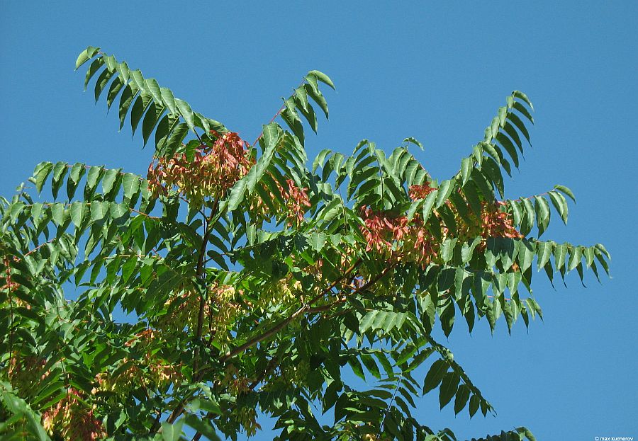
[[[120,127],[155,154],[146,178],[44,162],[29,182],[51,202],[24,184],[1,199],[3,439],[179,440],[184,425],[236,439],[262,412],[279,440],[455,440],[413,418],[418,396],[493,408],[433,328],[528,326],[536,268],[608,271],[600,244],[532,235],[551,207],[567,221],[569,188],[498,200],[530,141],[520,91],[437,181],[413,138],[389,156],[367,140],[323,150],[310,170],[304,124],[328,118],[320,88],[334,88],[320,71],[249,144],[113,55],[88,47],[86,62],[85,88],[119,97]]]

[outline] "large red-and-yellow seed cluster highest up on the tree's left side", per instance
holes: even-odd
[[[148,167],[149,188],[155,194],[166,194],[169,188],[195,203],[206,196],[223,196],[253,164],[248,144],[235,132],[218,134],[212,146],[202,144],[194,152],[192,161],[181,153],[172,158],[159,158]]]

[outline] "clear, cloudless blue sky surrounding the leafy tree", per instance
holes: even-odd
[[[508,196],[571,187],[578,203],[568,227],[556,221],[547,237],[602,242],[613,278],[588,277],[585,289],[574,275],[554,290],[539,274],[545,321],[529,332],[517,323],[508,336],[500,323],[491,336],[482,321],[469,336],[458,323],[443,343],[498,416],[455,418],[434,395],[416,414],[459,438],[516,425],[539,440],[638,437],[637,23],[635,1],[1,0],[0,194],[45,160],[145,173],[152,151],[82,93],[84,71],[73,67],[87,45],[250,140],[306,71],[325,71],[337,93],[326,92],[330,121],[310,136],[311,153],[347,153],[362,138],[389,150],[413,136],[442,178],[520,89],[535,103],[534,148]],[[264,434],[257,439],[272,438]]]

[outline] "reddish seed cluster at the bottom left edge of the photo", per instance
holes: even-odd
[[[102,423],[95,417],[94,409],[82,401],[82,393],[69,388],[67,396],[42,415],[45,430],[65,440],[92,441],[106,437]]]

